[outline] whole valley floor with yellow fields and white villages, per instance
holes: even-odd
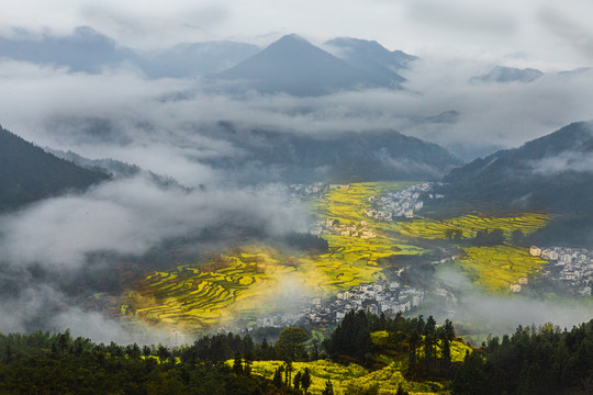
[[[544,228],[549,214],[368,215],[381,196],[406,196],[414,185],[419,183],[293,185],[301,192],[289,202],[309,207],[310,232],[327,241],[327,251],[251,242],[204,261],[177,261],[131,283],[116,315],[128,325],[192,335],[292,325],[324,330],[350,308],[413,314],[425,295],[452,295],[433,274],[441,264],[452,264],[481,292],[502,296],[521,292],[548,264],[514,239]],[[418,200],[432,198],[425,189]]]

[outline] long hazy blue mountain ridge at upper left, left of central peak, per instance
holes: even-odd
[[[149,78],[202,77],[232,67],[257,52],[259,47],[251,44],[206,42],[141,53],[120,46],[88,26],[76,27],[66,36],[36,35],[16,30],[11,37],[0,37],[0,57],[90,74],[127,63],[142,69]]]

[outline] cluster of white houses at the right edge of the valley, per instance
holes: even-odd
[[[582,297],[591,296],[593,286],[593,251],[584,248],[533,246],[529,253],[550,262],[541,271],[541,278],[560,281]]]

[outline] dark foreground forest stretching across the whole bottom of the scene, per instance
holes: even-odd
[[[372,334],[387,334],[383,341]],[[379,369],[381,353],[405,357],[405,375],[445,380],[452,394],[588,394],[593,390],[593,320],[570,331],[518,327],[451,362],[454,325],[433,317],[393,319],[350,312],[320,348],[301,328],[275,342],[250,335],[203,336],[190,346],[97,345],[69,331],[0,335],[1,394],[306,394],[311,371],[292,362],[333,359]],[[270,380],[254,361],[280,360]],[[293,374],[294,373],[294,374]],[[333,394],[327,381],[323,394]],[[405,394],[400,387],[398,394]]]

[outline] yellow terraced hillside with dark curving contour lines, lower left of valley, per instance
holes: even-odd
[[[219,262],[199,267],[180,266],[170,272],[157,272],[127,294],[127,304],[139,318],[205,329],[231,318],[233,305],[255,301],[261,290],[273,284],[273,258],[265,253],[251,257],[222,256]],[[244,308],[248,308],[244,302]],[[255,306],[251,305],[251,308]]]

